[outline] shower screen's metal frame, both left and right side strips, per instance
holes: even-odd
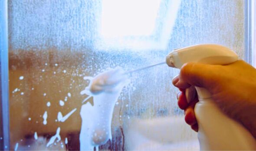
[[[10,150],[7,2],[8,0],[0,0],[0,150]],[[256,50],[253,43],[256,43],[256,39],[253,35],[256,33],[253,26],[256,22],[253,13],[256,4],[253,0],[245,0],[244,6],[244,60],[255,66]]]

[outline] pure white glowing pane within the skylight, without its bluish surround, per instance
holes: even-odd
[[[161,0],[102,0],[104,38],[152,35]]]

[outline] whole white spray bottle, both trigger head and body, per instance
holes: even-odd
[[[225,65],[238,59],[227,47],[200,44],[177,49],[166,57],[168,66],[179,68],[184,63],[199,62]],[[240,123],[226,116],[214,103],[211,94],[196,87],[199,102],[194,111],[198,123],[200,150],[256,150],[256,139]]]

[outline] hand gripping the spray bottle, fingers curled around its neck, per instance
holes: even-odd
[[[187,63],[173,84],[181,90],[178,105],[185,111],[185,121],[195,131],[198,126],[194,105],[198,98],[188,100],[188,104],[185,95],[185,89],[191,85],[206,88],[223,113],[243,124],[256,138],[256,69],[248,63],[242,60],[224,66]]]

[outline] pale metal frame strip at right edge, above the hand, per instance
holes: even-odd
[[[244,3],[244,60],[253,64],[253,22],[252,22],[252,0],[245,0]]]

